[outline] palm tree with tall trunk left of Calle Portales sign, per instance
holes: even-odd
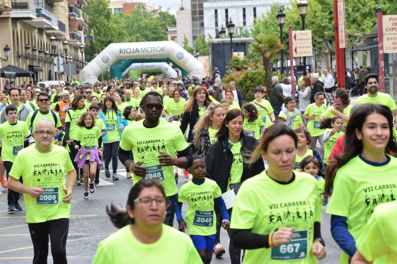
[[[272,87],[272,64],[274,56],[283,48],[280,39],[276,34],[265,35],[260,33],[254,36],[256,42],[251,43],[251,52],[257,53],[262,57],[263,66],[265,68],[265,81],[267,87]]]

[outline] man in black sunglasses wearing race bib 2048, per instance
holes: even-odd
[[[119,160],[134,173],[135,183],[142,179],[160,181],[169,200],[164,223],[172,226],[178,199],[173,166],[187,169],[193,163],[193,156],[181,129],[160,120],[163,99],[159,93],[146,93],[141,107],[145,119],[124,129]],[[173,158],[175,150],[179,158]]]

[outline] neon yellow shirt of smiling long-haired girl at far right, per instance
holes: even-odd
[[[387,164],[376,166],[356,156],[336,172],[326,213],[347,217],[347,230],[356,241],[364,233],[374,208],[397,197],[397,158],[387,156],[390,158]],[[347,263],[348,258],[342,252],[340,263]]]

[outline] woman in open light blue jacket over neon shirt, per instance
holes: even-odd
[[[117,177],[117,155],[121,140],[121,132],[124,130],[123,117],[118,110],[113,97],[107,96],[102,110],[98,115],[104,122],[108,134],[102,137],[105,150],[105,176],[110,178],[109,163],[112,160],[113,175],[112,180],[119,180]]]

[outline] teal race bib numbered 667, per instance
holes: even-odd
[[[300,260],[307,257],[308,230],[294,231],[289,243],[272,248],[272,259]]]

